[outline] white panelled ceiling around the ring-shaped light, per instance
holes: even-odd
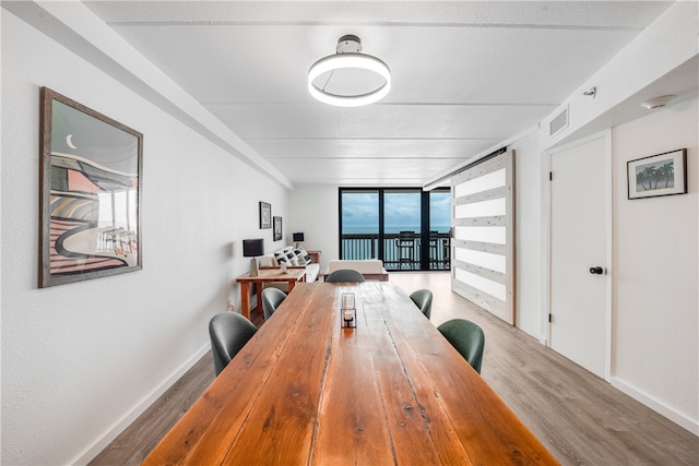
[[[423,186],[542,121],[671,3],[85,4],[293,183]],[[378,104],[308,94],[346,34],[391,69]]]

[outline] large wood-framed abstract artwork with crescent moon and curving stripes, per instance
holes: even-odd
[[[142,268],[143,134],[42,87],[39,286]]]

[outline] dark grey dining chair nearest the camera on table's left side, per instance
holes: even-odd
[[[257,331],[252,322],[235,312],[222,312],[211,318],[209,336],[216,377]]]

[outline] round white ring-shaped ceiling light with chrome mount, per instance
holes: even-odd
[[[391,91],[391,70],[381,60],[362,53],[362,40],[340,37],[336,53],[321,58],[308,70],[308,92],[337,107],[360,107],[381,100]]]

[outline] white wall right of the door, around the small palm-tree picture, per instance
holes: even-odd
[[[697,99],[613,130],[612,383],[699,434]],[[627,199],[628,160],[687,148],[688,194]]]

